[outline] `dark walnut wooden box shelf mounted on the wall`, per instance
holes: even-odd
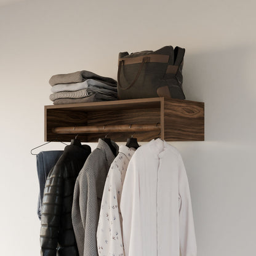
[[[50,105],[44,111],[45,141],[69,142],[79,134],[81,142],[97,142],[106,132],[115,142],[126,142],[133,132],[139,142],[159,134],[166,141],[204,140],[203,102],[140,98]]]

